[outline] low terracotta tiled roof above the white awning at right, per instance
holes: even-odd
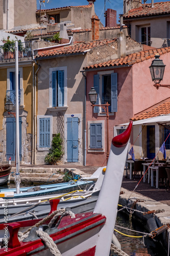
[[[170,102],[163,102],[151,111],[141,112],[131,118],[132,121],[170,114]]]

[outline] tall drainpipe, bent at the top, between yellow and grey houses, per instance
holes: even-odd
[[[34,164],[36,164],[36,141],[37,141],[37,120],[36,120],[36,97],[37,97],[37,94],[36,94],[36,91],[37,91],[37,73],[40,69],[40,65],[37,63],[37,61],[35,60],[35,63],[38,65],[38,69],[36,70],[35,72],[35,76],[34,76],[34,116],[33,116],[33,124],[34,124],[34,134],[33,134],[33,141],[34,141],[34,144],[33,144],[33,155],[34,155]]]

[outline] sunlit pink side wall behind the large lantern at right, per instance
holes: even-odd
[[[170,73],[168,67],[170,66],[170,59],[168,59],[165,53],[160,56],[163,63],[166,65],[163,83],[169,84]],[[151,79],[151,73],[149,67],[152,60],[148,59],[133,65],[133,115],[150,108],[154,104],[170,97],[170,90],[168,88],[159,88],[158,90],[153,86],[154,82]]]

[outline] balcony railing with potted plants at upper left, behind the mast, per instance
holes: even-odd
[[[18,58],[32,58],[32,42],[18,42]],[[15,59],[15,44],[0,46],[0,61]]]

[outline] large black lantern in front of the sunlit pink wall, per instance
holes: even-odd
[[[170,84],[160,84],[163,79],[165,66],[163,61],[159,58],[159,55],[155,55],[155,59],[152,61],[150,68],[152,81],[154,81],[154,86],[156,89],[159,87],[170,87]]]

